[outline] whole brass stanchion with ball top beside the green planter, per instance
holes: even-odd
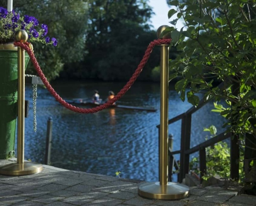
[[[19,30],[15,33],[15,40],[25,43],[27,32]],[[17,163],[9,163],[0,167],[0,174],[28,175],[39,173],[43,167],[33,162],[24,162],[24,131],[25,131],[25,51],[18,47],[18,141]]]

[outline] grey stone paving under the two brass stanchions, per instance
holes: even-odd
[[[0,160],[0,166],[11,161]],[[191,187],[181,200],[146,199],[138,195],[144,181],[43,167],[38,174],[0,175],[0,206],[256,206],[256,196],[213,187]]]

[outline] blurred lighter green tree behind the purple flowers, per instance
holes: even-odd
[[[7,6],[7,1],[1,0]],[[20,14],[35,16],[39,23],[48,25],[49,36],[58,40],[57,47],[33,44],[35,56],[48,80],[55,79],[64,64],[72,66],[82,61],[87,28],[87,1],[81,0],[23,0],[14,1],[13,8]],[[32,65],[29,74],[36,74]]]

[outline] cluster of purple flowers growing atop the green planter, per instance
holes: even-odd
[[[39,22],[34,16],[24,15],[20,17],[19,13],[15,11],[8,12],[7,9],[0,7],[0,33],[7,34],[8,32],[14,34],[17,29],[25,30],[31,41],[40,41],[45,44],[57,45],[57,40],[52,37],[46,36],[48,33],[48,26],[41,24],[38,28]],[[4,29],[4,30],[3,30]],[[3,40],[3,38],[2,38]]]

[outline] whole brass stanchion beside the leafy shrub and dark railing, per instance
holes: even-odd
[[[168,26],[157,29],[157,37]],[[169,35],[163,39],[170,39]],[[161,46],[161,80],[160,80],[160,145],[159,145],[159,182],[144,183],[139,186],[138,194],[150,199],[182,199],[189,195],[189,187],[179,183],[168,182],[168,86],[169,86],[169,45]]]

